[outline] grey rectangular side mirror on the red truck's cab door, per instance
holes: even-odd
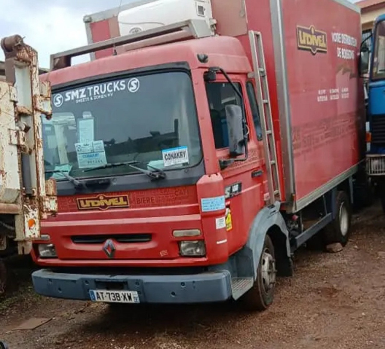
[[[229,150],[231,157],[244,154],[243,113],[239,105],[226,105],[226,121],[229,132]]]

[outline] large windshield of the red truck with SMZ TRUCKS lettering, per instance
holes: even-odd
[[[130,161],[147,170],[181,169],[202,159],[191,78],[184,72],[60,90],[52,110],[51,120],[42,119],[47,177],[137,173],[128,165],[103,168]]]

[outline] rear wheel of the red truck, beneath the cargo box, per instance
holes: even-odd
[[[338,191],[336,195],[336,217],[325,228],[325,245],[339,242],[342,246],[348,243],[350,237],[350,227],[352,223],[352,207],[346,192]]]

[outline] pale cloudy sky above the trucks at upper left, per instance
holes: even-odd
[[[83,17],[132,0],[0,0],[0,38],[20,34],[39,53],[39,65],[49,68],[49,56],[87,45]],[[320,0],[321,1],[321,0]],[[350,0],[357,2],[357,0]],[[8,9],[4,11],[3,9]],[[0,60],[3,60],[0,50]],[[74,63],[88,58],[79,57]]]

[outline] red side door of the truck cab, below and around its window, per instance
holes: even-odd
[[[234,162],[221,170],[225,184],[226,229],[228,230],[229,253],[238,250],[246,241],[249,225],[256,213],[264,206],[263,145],[258,107],[251,82],[238,75],[230,75],[231,80],[243,96],[243,101],[231,84],[221,77],[215,82],[206,82],[211,126],[216,148],[216,156],[224,159],[229,154],[228,129],[225,107],[228,104],[245,104],[249,129],[248,159]],[[258,134],[258,135],[257,135]]]

